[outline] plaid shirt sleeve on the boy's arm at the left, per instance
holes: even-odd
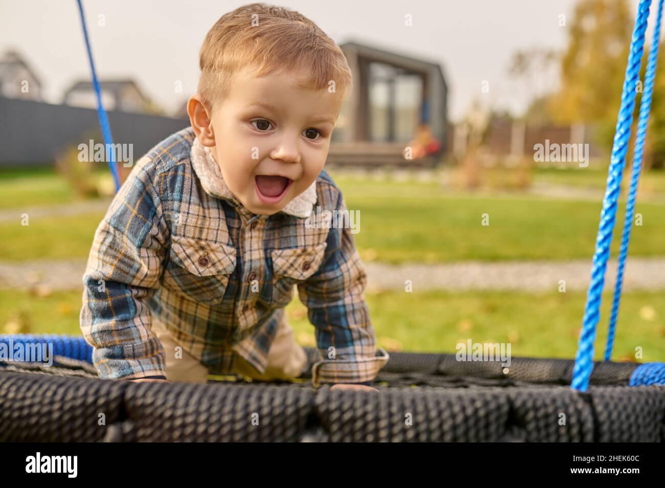
[[[112,200],[83,275],[80,328],[100,378],[163,377],[165,354],[146,300],[160,286],[168,228],[146,157]]]

